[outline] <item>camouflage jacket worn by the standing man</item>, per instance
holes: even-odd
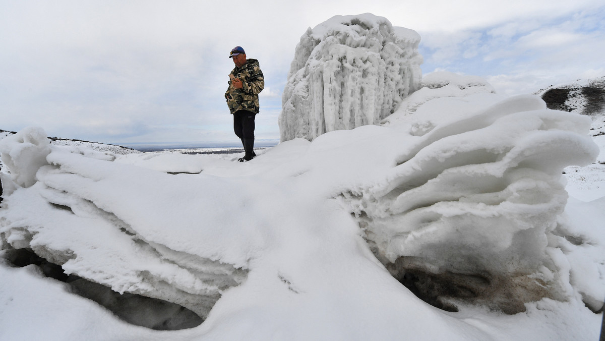
[[[229,111],[235,113],[238,110],[247,110],[258,114],[260,110],[258,93],[263,91],[264,88],[263,71],[261,71],[258,61],[256,59],[247,59],[246,64],[241,68],[235,67],[231,71],[231,74],[235,78],[241,79],[244,86],[241,89],[236,89],[231,86],[231,79],[229,79],[229,87],[225,93]]]

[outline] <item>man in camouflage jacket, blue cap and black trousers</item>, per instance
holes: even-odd
[[[240,162],[250,161],[257,156],[254,153],[254,118],[260,110],[258,93],[263,91],[263,71],[256,59],[246,59],[246,52],[241,46],[231,50],[235,68],[229,74],[229,87],[225,93],[227,106],[233,114],[233,128],[240,137],[246,154]]]

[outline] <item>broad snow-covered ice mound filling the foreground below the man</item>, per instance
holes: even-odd
[[[204,317],[155,334],[81,310],[80,339],[123,329],[148,340],[592,339],[605,297],[603,200],[565,210],[561,174],[594,161],[589,127],[537,96],[477,93],[283,142],[244,164],[81,153],[28,128],[0,142],[10,161],[0,246]],[[27,271],[2,261],[0,273],[2,331],[20,335],[10,315],[23,310],[52,325],[44,298],[16,285]]]

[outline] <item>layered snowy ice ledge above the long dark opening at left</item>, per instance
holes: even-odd
[[[2,173],[4,196],[10,196],[2,202],[3,248],[31,249],[67,274],[118,293],[177,303],[203,318],[221,290],[246,277],[243,263],[220,262],[214,248],[188,242],[189,232],[196,229],[179,223],[179,211],[197,207],[180,205],[170,214],[158,210],[170,207],[159,205],[162,202],[181,196],[174,183],[178,179],[171,175],[165,174],[162,182],[172,182],[173,193],[159,195],[152,186],[134,190],[144,183],[144,170],[108,171],[105,167],[114,165],[116,155],[51,146],[44,130],[33,127],[2,140],[0,153],[10,172]],[[12,204],[19,200],[28,203],[22,211]],[[149,215],[140,220],[142,212],[134,212],[132,203],[150,210],[144,212]],[[48,210],[48,205],[54,210]],[[19,218],[22,214],[27,222]]]

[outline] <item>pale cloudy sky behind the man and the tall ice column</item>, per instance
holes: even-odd
[[[279,141],[296,44],[335,15],[416,30],[423,74],[482,76],[533,93],[605,76],[605,3],[535,1],[0,0],[0,129],[136,145],[239,144],[224,101],[229,51],[265,77],[256,145]]]

